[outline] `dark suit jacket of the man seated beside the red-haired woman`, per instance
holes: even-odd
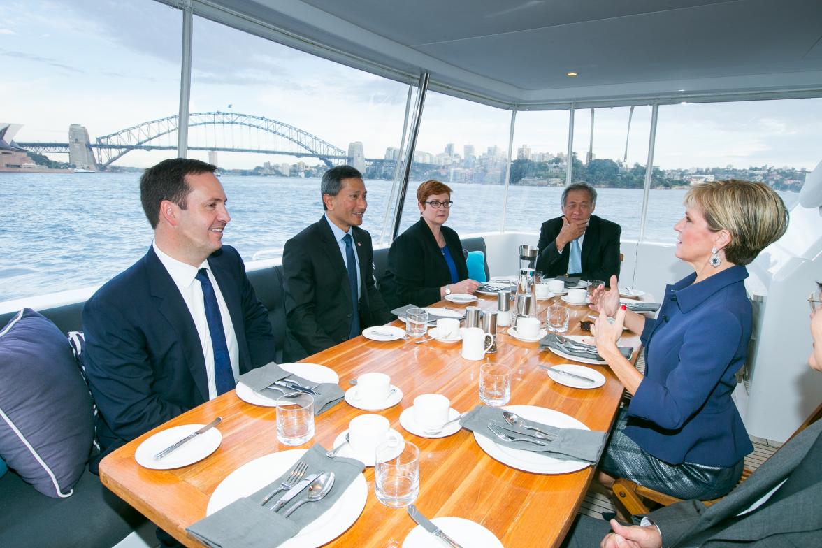
[[[360,265],[360,327],[393,320],[374,282],[371,235],[352,227]],[[325,215],[285,242],[285,358],[321,352],[348,340],[353,320],[348,271]]]

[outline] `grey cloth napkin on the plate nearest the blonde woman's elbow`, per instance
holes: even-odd
[[[502,412],[503,410],[500,408],[489,408],[484,405],[478,405],[473,408],[460,423],[463,428],[483,435],[495,444],[505,445],[511,449],[524,449],[526,451],[544,453],[553,458],[559,458],[560,460],[582,460],[586,463],[593,464],[598,462],[599,456],[603,453],[605,440],[607,439],[606,432],[580,430],[578,428],[557,428],[556,426],[548,426],[536,421],[527,421],[530,426],[554,435],[554,439],[548,441],[534,437],[533,431],[510,426],[502,417]],[[488,430],[488,425],[491,423],[503,425],[507,429],[510,429],[499,429],[498,431],[502,433],[533,438],[534,440],[543,441],[544,445],[532,444],[528,441],[503,441],[496,437],[492,431]]]

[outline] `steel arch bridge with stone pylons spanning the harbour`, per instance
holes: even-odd
[[[177,150],[178,125],[177,115],[168,116],[97,137],[94,143],[90,142],[84,127],[72,125],[70,142],[18,142],[17,145],[40,154],[70,154],[71,163],[77,166],[85,164],[105,170],[132,150]],[[190,134],[196,131],[200,136],[189,139],[188,150],[309,157],[320,159],[328,167],[360,163],[363,167],[389,168],[395,163],[394,159],[364,158],[362,144],[352,143],[349,150],[343,150],[298,127],[251,114],[192,113],[188,127]],[[231,128],[226,132],[226,127],[245,127],[247,131],[238,134]],[[84,156],[86,161],[82,159]]]

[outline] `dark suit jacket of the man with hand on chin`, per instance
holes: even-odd
[[[601,279],[605,283],[612,274],[619,277],[619,237],[622,228],[617,223],[591,215],[582,242],[582,272],[568,272],[570,243],[562,249],[562,253],[556,251],[556,237],[561,229],[562,218],[557,217],[545,221],[539,231],[537,269],[542,270],[543,275],[554,278],[575,274],[584,279]]]

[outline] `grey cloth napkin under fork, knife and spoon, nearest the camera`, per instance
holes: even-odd
[[[339,499],[349,485],[363,472],[363,463],[353,458],[326,457],[326,449],[314,445],[303,459],[308,464],[306,475],[321,471],[334,472],[334,487],[325,498],[317,502],[303,504],[288,518],[280,513],[271,512],[261,506],[260,502],[288,476],[291,469],[272,481],[269,485],[256,491],[251,496],[235,500],[224,509],[193,523],[186,530],[206,546],[215,548],[273,548],[296,535],[302,527],[312,523]],[[295,500],[304,495],[298,495]],[[281,495],[284,495],[282,493]],[[266,506],[274,504],[271,500]],[[294,504],[289,502],[285,508]]]

